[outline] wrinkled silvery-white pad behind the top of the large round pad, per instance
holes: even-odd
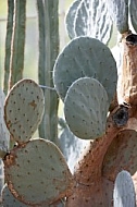
[[[75,37],[89,36],[108,44],[112,32],[112,20],[105,1],[82,0],[75,12]]]

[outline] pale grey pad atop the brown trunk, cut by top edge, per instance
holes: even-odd
[[[121,34],[128,32],[128,0],[107,0],[105,4],[117,31]]]

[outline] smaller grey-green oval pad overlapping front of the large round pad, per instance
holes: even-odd
[[[108,95],[91,77],[75,81],[66,93],[64,113],[70,130],[79,138],[90,139],[105,132]]]

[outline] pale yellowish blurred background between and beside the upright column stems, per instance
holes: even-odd
[[[60,16],[60,50],[70,40],[65,31],[65,13],[73,0],[59,0]],[[38,19],[36,0],[26,1],[26,39],[24,77],[37,81],[38,69]],[[7,34],[8,1],[0,0],[0,87],[3,84],[5,34]]]

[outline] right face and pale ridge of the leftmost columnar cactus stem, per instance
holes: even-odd
[[[26,0],[14,1],[14,24],[10,62],[10,88],[23,77]]]

